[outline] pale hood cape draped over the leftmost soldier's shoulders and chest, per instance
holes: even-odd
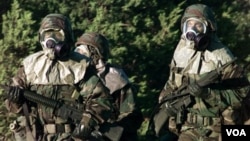
[[[23,66],[27,83],[31,85],[73,85],[84,78],[89,60],[71,52],[68,61],[55,63],[39,51],[26,57]]]

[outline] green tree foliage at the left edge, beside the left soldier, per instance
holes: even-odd
[[[18,0],[14,0],[11,9],[2,15],[3,38],[0,40],[0,80],[1,84],[8,83],[20,65],[21,58],[31,53],[35,48],[35,32],[31,28],[35,21],[32,20],[32,12],[20,8]],[[10,65],[11,64],[11,65]],[[4,96],[1,95],[1,101]],[[2,135],[10,136],[8,125],[15,115],[7,113],[4,102],[0,105],[0,139]],[[2,139],[1,139],[2,140]]]

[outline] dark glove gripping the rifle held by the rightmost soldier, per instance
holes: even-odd
[[[195,97],[206,98],[208,96],[208,88],[203,88],[197,83],[191,83],[188,85],[187,90]]]

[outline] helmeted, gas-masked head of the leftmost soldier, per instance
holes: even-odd
[[[39,29],[39,41],[50,58],[69,54],[74,42],[71,23],[62,14],[49,14],[43,18]]]

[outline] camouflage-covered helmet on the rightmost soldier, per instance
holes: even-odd
[[[183,24],[188,18],[198,18],[200,20],[208,22],[212,31],[217,30],[217,24],[212,9],[204,4],[193,4],[185,9],[185,12],[181,19],[181,30]]]

